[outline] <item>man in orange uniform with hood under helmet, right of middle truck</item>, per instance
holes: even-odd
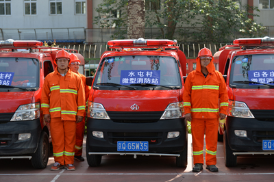
[[[219,118],[227,115],[228,96],[223,75],[215,70],[209,49],[199,51],[197,69],[189,73],[184,85],[184,114],[191,121],[193,172],[203,169],[203,138],[206,129],[206,168],[216,167]],[[220,103],[220,105],[219,105]]]

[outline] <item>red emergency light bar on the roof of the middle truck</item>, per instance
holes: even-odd
[[[135,39],[135,40],[110,40],[108,45],[110,47],[164,47],[175,46],[177,40],[153,40],[153,39]]]

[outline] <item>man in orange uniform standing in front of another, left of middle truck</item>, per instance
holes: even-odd
[[[68,67],[69,62],[69,53],[58,51],[54,60],[57,67],[47,75],[42,88],[41,107],[45,122],[50,122],[55,160],[51,170],[75,170],[76,123],[83,120],[85,112],[83,83]]]

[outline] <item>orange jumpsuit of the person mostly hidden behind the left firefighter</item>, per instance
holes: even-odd
[[[88,96],[90,95],[90,88],[86,85],[86,77],[81,73],[77,72],[77,74],[81,77],[83,88],[86,94],[86,101],[88,101]],[[86,121],[86,112],[84,114],[84,118],[81,122],[76,123],[76,142],[75,142],[75,155],[82,156],[83,149],[83,139],[84,139],[84,131],[85,131],[85,121]]]

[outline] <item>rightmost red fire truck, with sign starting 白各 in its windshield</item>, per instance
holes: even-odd
[[[226,77],[229,107],[220,122],[225,166],[238,155],[274,154],[274,38],[240,38],[214,54]]]

